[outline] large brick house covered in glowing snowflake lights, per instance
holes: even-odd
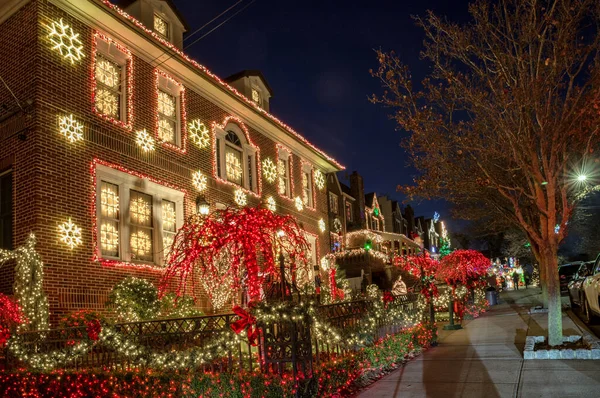
[[[225,81],[185,55],[189,27],[172,1],[121,6],[0,5],[0,247],[35,233],[52,319],[104,309],[124,277],[157,282],[199,204],[293,215],[318,264],[325,179],[343,167],[268,112],[262,74]],[[61,242],[61,225],[81,244]],[[12,283],[1,268],[0,290]]]

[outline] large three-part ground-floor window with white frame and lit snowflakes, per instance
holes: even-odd
[[[183,192],[103,165],[96,179],[100,257],[164,264],[183,224]]]

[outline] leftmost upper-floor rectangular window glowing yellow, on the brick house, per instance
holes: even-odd
[[[94,59],[94,110],[111,121],[129,127],[131,115],[127,114],[128,73],[131,53],[111,39],[99,34],[95,37]]]

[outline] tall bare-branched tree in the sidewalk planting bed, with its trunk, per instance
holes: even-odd
[[[420,174],[407,194],[476,204],[527,235],[558,345],[557,250],[586,183],[577,176],[599,144],[600,2],[477,0],[469,12],[465,24],[431,12],[416,19],[431,67],[420,86],[379,51],[372,74],[385,91],[372,101],[410,132]]]

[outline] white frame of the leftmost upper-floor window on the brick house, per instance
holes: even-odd
[[[98,91],[98,88],[102,88],[102,83],[98,82],[96,80],[96,64],[97,64],[97,60],[98,57],[102,57],[102,58],[106,58],[108,61],[114,62],[115,64],[119,65],[119,67],[121,68],[121,76],[120,76],[120,85],[121,85],[121,90],[119,92],[119,117],[118,117],[118,121],[122,122],[122,123],[129,123],[129,120],[127,120],[127,99],[128,99],[128,92],[127,90],[129,89],[129,87],[127,87],[127,83],[129,81],[129,79],[127,78],[127,74],[131,73],[131,71],[127,70],[127,64],[129,61],[129,55],[124,53],[123,51],[121,51],[117,45],[115,43],[113,43],[112,41],[106,41],[104,40],[102,37],[96,36],[94,38],[96,40],[96,53],[95,53],[95,57],[96,59],[94,60],[94,84],[96,86],[96,92]],[[105,116],[105,117],[113,117],[112,115],[108,115],[106,113],[102,113],[100,112],[97,108],[96,108],[96,103],[95,103],[96,99],[94,98],[94,110],[96,111],[96,113],[98,113],[99,115]]]

